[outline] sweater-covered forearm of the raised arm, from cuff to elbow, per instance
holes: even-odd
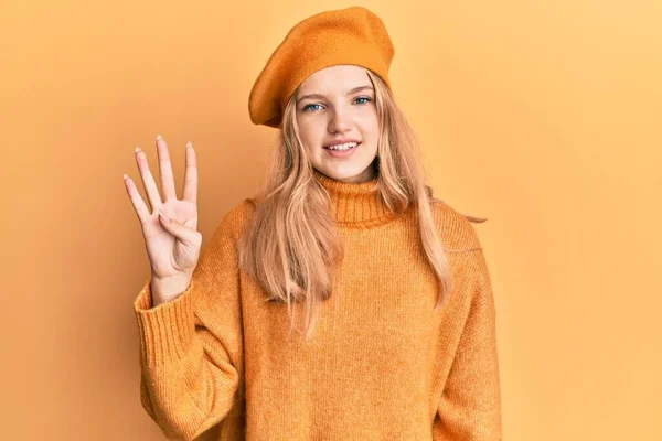
[[[239,381],[221,342],[196,327],[192,288],[170,302],[137,305],[136,311],[140,400],[163,433],[178,440],[192,440],[221,421],[235,402]]]

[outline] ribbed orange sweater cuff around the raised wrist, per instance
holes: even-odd
[[[148,366],[179,363],[195,335],[192,291],[194,282],[177,299],[151,306],[148,281],[134,302],[140,337],[140,357]]]

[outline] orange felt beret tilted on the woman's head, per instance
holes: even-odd
[[[297,23],[255,80],[248,114],[255,125],[279,127],[287,101],[308,76],[338,64],[363,66],[391,88],[395,51],[382,20],[362,7],[325,11]]]

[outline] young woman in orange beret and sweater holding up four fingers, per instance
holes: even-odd
[[[501,439],[481,219],[425,184],[393,55],[364,8],[292,28],[249,97],[253,122],[279,129],[265,189],[200,259],[192,146],[181,201],[166,142],[164,202],[138,150],[140,398],[169,439],[214,424],[222,440]]]

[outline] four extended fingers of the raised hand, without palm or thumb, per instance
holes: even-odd
[[[136,147],[135,151],[136,162],[138,164],[138,170],[140,172],[140,178],[142,180],[142,184],[145,185],[148,200],[152,207],[152,212],[157,212],[160,209],[162,204],[161,196],[159,195],[159,189],[157,187],[154,179],[149,170],[149,164],[147,162],[145,152],[139,147]],[[157,137],[157,153],[159,157],[159,171],[164,201],[171,197],[177,198],[174,178],[172,174],[168,147],[160,135]],[[141,222],[147,220],[150,215],[149,208],[145,204],[145,201],[142,201],[142,197],[140,197],[140,193],[138,193],[136,184],[127,174],[124,175],[124,181],[138,218]],[[193,144],[191,142],[186,143],[186,168],[184,171],[183,198],[193,203],[196,203],[197,200],[197,162],[195,159],[195,151],[193,150]]]

